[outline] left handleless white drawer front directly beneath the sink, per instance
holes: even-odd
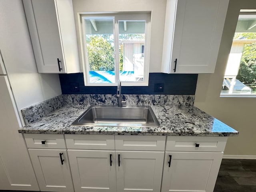
[[[114,135],[72,135],[66,134],[68,149],[114,150]]]

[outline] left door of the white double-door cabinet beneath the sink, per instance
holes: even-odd
[[[68,150],[75,191],[116,192],[114,157],[114,151]]]

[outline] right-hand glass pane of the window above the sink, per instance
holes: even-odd
[[[119,20],[119,78],[144,80],[145,20]]]

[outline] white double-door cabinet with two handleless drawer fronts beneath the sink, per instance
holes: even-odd
[[[160,192],[164,146],[162,151],[135,151],[138,146],[149,147],[158,137],[130,136],[123,145],[114,142],[110,136],[66,136],[67,148],[87,148],[90,150],[68,149],[70,168],[76,192]],[[119,138],[120,136],[118,136]],[[104,139],[105,138],[105,139]],[[124,136],[121,138],[129,139]],[[138,144],[134,139],[141,139]],[[145,138],[147,138],[145,140]],[[79,139],[79,141],[78,141]],[[104,140],[113,142],[103,142]],[[165,142],[165,137],[161,137]],[[134,141],[132,148],[131,142]],[[139,140],[137,140],[139,141]],[[102,144],[113,150],[98,150]],[[119,145],[117,147],[117,145]],[[131,150],[114,150],[125,148]],[[95,150],[93,150],[95,149]],[[145,148],[146,150],[146,148]]]

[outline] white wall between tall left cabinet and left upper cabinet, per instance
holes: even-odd
[[[58,74],[38,74],[22,0],[0,0],[0,49],[20,111],[62,94]]]

